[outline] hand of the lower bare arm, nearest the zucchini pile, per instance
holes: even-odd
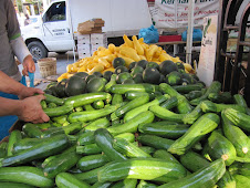
[[[50,117],[43,112],[40,104],[42,100],[45,100],[45,96],[37,95],[22,100],[18,117],[24,122],[34,124],[49,122]]]

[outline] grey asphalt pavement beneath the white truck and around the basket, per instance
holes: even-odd
[[[73,52],[67,52],[65,54],[58,54],[55,52],[50,52],[49,53],[49,58],[56,58],[56,75],[60,76],[61,74],[66,72],[66,66],[67,64],[72,64],[74,63],[74,55]],[[77,54],[75,60],[77,61]],[[19,65],[19,70],[20,72],[22,72],[22,65]],[[34,80],[45,80],[44,77],[42,77],[40,70],[39,70],[39,65],[38,63],[35,63],[35,73],[34,73]],[[27,77],[27,81],[29,81],[29,77]],[[41,82],[39,85],[37,85],[35,87],[41,88],[41,90],[45,90],[46,85],[50,82]]]

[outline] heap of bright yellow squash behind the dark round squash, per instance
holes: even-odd
[[[127,35],[123,35],[124,44],[115,46],[114,44],[108,44],[107,49],[100,46],[97,51],[93,53],[92,56],[79,60],[73,64],[69,64],[66,67],[66,73],[63,73],[59,79],[60,82],[63,79],[69,79],[76,72],[87,72],[92,74],[93,72],[114,71],[112,66],[112,61],[115,58],[123,58],[128,67],[132,62],[138,62],[139,60],[146,60],[148,62],[156,62],[160,64],[163,61],[170,60],[173,62],[181,62],[179,58],[173,58],[162,46],[156,44],[146,44],[144,39],[137,39],[136,35],[132,36],[132,40]],[[187,73],[192,73],[194,70],[188,63],[184,63]]]

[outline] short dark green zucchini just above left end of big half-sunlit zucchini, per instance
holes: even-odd
[[[103,154],[96,154],[96,155],[88,155],[82,157],[77,161],[77,168],[82,171],[88,171],[98,167],[102,167],[103,165],[107,164],[110,159],[106,155]]]

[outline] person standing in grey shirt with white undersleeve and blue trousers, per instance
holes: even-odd
[[[0,0],[0,71],[20,82],[21,73],[14,56],[22,63],[22,74],[34,73],[35,65],[19,28],[15,10],[11,0]],[[2,81],[4,82],[4,81]],[[19,100],[18,93],[0,91],[0,97]],[[0,106],[1,107],[1,106]],[[8,134],[8,129],[18,119],[18,116],[1,116],[0,133]]]

